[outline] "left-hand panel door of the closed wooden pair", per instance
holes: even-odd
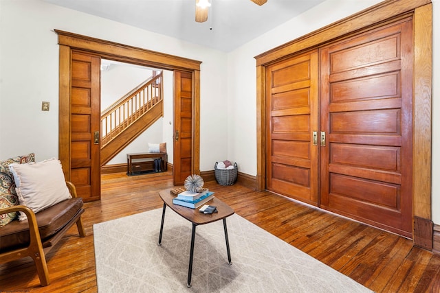
[[[267,189],[318,204],[318,52],[267,68]]]

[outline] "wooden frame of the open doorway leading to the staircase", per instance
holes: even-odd
[[[101,58],[135,65],[192,73],[192,174],[200,174],[200,64],[201,61],[131,47],[107,40],[54,30],[58,34],[59,51],[59,128],[58,156],[66,180],[70,178],[70,78],[72,50]]]

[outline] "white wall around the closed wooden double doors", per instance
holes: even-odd
[[[327,0],[276,29],[263,34],[228,54],[228,155],[239,170],[256,175],[256,69],[254,56],[278,45],[318,30],[344,17],[369,8],[382,0]],[[440,0],[433,5],[433,81],[440,76],[437,59],[440,48]],[[437,19],[439,17],[439,19]],[[437,37],[436,37],[437,36]],[[440,95],[433,82],[432,91],[432,220],[440,224]],[[248,105],[249,108],[243,107]]]

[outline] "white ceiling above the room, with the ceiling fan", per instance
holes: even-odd
[[[195,22],[195,0],[43,1],[221,51],[232,51],[325,0],[267,0],[262,6],[250,0],[210,0],[212,6],[206,23]]]

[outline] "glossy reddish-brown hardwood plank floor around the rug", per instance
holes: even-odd
[[[92,226],[162,207],[171,173],[102,176],[102,200],[87,202],[87,237],[72,228],[47,255],[51,284],[40,287],[32,259],[0,264],[0,292],[97,292]],[[375,292],[440,292],[440,256],[412,241],[270,192],[205,183],[243,218]],[[232,256],[233,257],[233,256]]]

